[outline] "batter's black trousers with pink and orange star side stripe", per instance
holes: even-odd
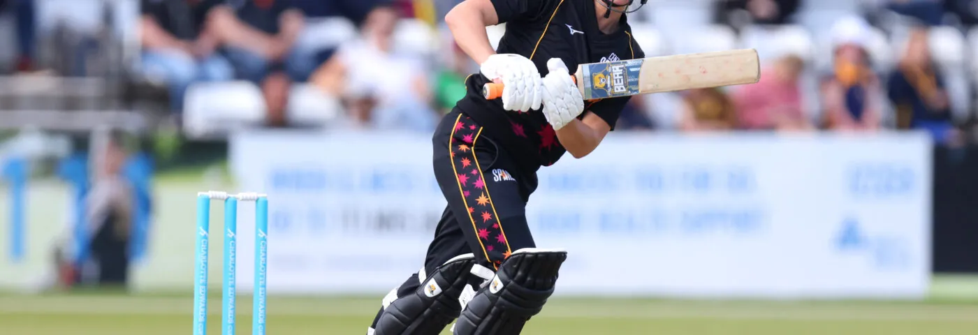
[[[428,245],[425,273],[467,253],[475,255],[477,264],[496,271],[513,251],[536,246],[526,222],[532,190],[517,182],[524,176],[511,155],[481,132],[482,127],[458,108],[435,129],[434,174],[448,206]],[[474,275],[470,280],[482,282]],[[397,296],[407,296],[419,286],[416,272],[397,289]]]

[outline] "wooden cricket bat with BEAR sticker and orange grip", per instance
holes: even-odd
[[[571,75],[584,100],[697,88],[753,84],[761,79],[754,49],[583,63]],[[503,84],[482,87],[486,99],[503,96]]]

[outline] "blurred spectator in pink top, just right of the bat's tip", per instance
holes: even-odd
[[[810,129],[802,106],[799,79],[805,63],[790,55],[778,59],[757,84],[733,92],[740,128],[748,130]]]

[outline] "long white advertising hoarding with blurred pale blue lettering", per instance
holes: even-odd
[[[269,194],[273,293],[389,290],[421,268],[445,206],[426,134],[246,133],[231,164]],[[569,251],[558,294],[917,298],[930,175],[916,134],[613,134],[543,168],[527,215],[538,246]]]

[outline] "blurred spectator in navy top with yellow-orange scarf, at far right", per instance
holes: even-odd
[[[903,59],[887,83],[890,101],[896,106],[897,125],[923,129],[936,143],[946,143],[954,133],[951,105],[944,78],[930,57],[927,29],[911,31]]]

